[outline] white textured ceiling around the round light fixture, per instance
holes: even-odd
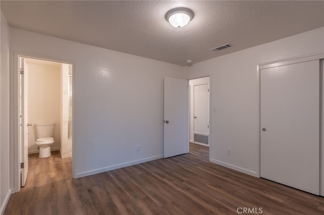
[[[183,28],[165,19],[187,7]],[[177,65],[324,26],[323,1],[1,1],[10,26]],[[209,49],[230,43],[218,52]]]

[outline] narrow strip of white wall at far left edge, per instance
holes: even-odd
[[[5,210],[9,200],[9,26],[1,11],[1,76],[0,76],[0,214]]]

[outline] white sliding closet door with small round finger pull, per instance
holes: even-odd
[[[260,70],[260,176],[319,193],[319,61]]]

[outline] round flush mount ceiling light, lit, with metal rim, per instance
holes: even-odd
[[[175,8],[166,14],[166,19],[175,28],[181,28],[193,18],[193,12],[188,8]]]

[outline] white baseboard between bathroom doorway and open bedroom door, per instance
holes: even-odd
[[[103,173],[103,172],[107,172],[107,171],[110,171],[110,170],[115,170],[115,169],[119,169],[119,168],[123,168],[123,167],[128,167],[128,166],[144,163],[144,162],[149,162],[151,160],[155,160],[155,159],[159,159],[159,158],[163,158],[163,154],[152,156],[152,157],[147,157],[147,158],[144,158],[144,159],[134,160],[132,162],[126,162],[126,163],[112,165],[112,166],[108,166],[108,167],[103,167],[103,168],[90,170],[90,171],[86,171],[86,172],[76,173],[74,178],[77,179],[77,178],[81,178],[81,177],[85,177],[85,176],[90,176],[90,175],[94,175],[94,174],[98,174],[98,173]]]

